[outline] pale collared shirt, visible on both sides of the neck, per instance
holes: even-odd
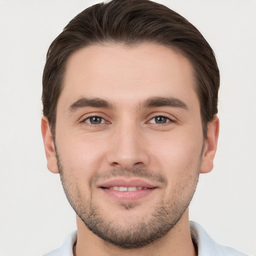
[[[233,248],[222,246],[214,242],[205,230],[196,222],[190,221],[190,232],[194,243],[197,244],[198,256],[248,256]],[[73,245],[77,239],[77,232],[73,231],[63,245],[44,256],[73,256]]]

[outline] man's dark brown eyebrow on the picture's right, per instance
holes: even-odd
[[[144,100],[144,102],[141,105],[142,108],[150,108],[157,106],[178,107],[188,110],[188,106],[185,102],[174,97],[150,97]]]

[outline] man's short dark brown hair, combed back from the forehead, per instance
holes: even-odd
[[[219,70],[214,53],[184,17],[150,0],[111,0],[92,5],[75,16],[50,44],[42,77],[42,104],[53,135],[67,58],[85,46],[109,42],[154,42],[187,57],[194,68],[203,136],[207,136],[207,124],[217,113]]]

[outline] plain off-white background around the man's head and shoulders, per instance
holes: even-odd
[[[40,134],[46,50],[94,0],[0,0],[0,256],[41,255],[75,229]],[[256,254],[256,1],[159,0],[192,22],[221,73],[220,135],[212,172],[190,205],[217,242]]]

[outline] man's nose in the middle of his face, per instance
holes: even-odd
[[[149,163],[146,139],[136,125],[118,125],[111,137],[107,155],[109,165],[131,169],[145,167]]]

